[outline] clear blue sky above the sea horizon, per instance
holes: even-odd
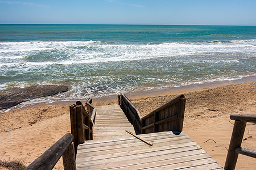
[[[0,1],[1,24],[256,25],[255,0]]]

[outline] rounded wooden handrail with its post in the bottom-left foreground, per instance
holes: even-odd
[[[26,170],[52,169],[61,156],[63,156],[64,169],[76,169],[75,149],[72,140],[73,135],[71,133],[65,134],[59,141],[35,159],[34,162],[28,165]]]

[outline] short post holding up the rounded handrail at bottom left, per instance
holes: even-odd
[[[63,159],[64,170],[76,169],[76,156],[75,156],[75,147],[73,142],[63,152],[62,159]]]

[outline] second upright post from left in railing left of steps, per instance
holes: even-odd
[[[84,143],[84,126],[82,122],[82,106],[77,105],[76,106],[76,128],[77,128],[77,139],[78,144]]]

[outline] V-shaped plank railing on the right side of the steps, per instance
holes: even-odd
[[[141,134],[159,131],[182,131],[185,100],[185,96],[180,95],[150,114],[141,117],[141,113],[125,95],[118,95],[118,104]]]

